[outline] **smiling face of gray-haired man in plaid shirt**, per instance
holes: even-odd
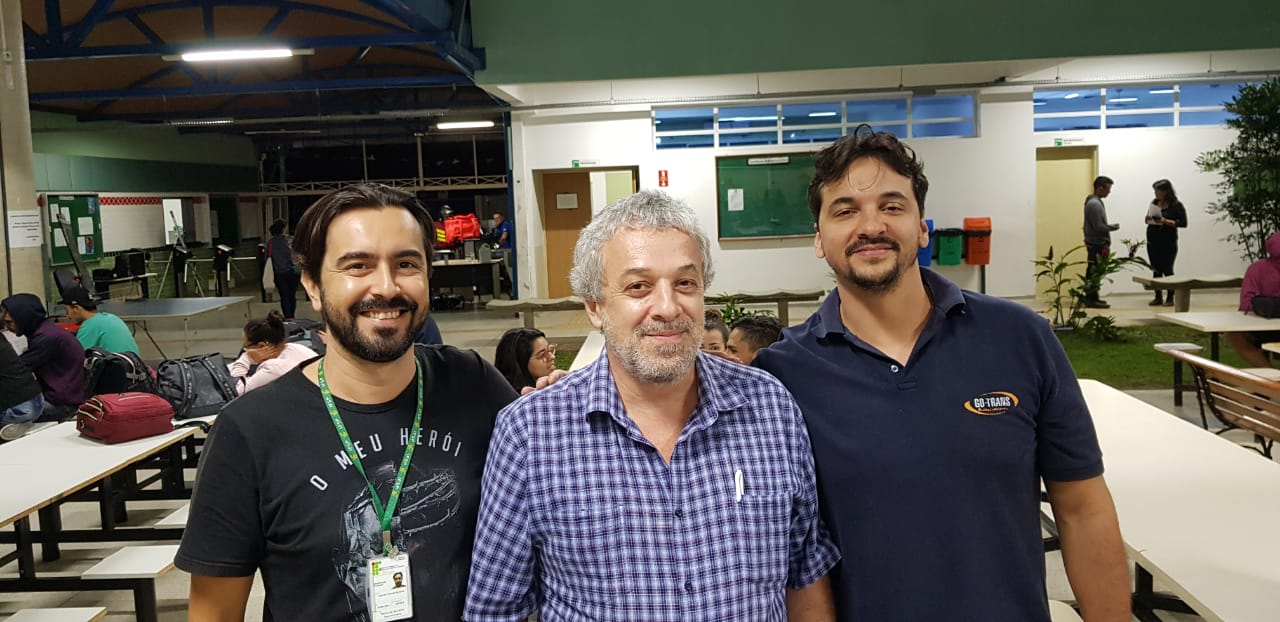
[[[613,374],[675,384],[694,370],[703,342],[703,261],[675,229],[621,229],[602,250],[604,285],[586,301],[604,331]]]

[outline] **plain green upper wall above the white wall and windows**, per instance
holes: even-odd
[[[1276,0],[476,0],[486,84],[1280,47]]]

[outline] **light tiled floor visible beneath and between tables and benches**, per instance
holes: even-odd
[[[1112,308],[1105,311],[1115,316],[1121,324],[1143,324],[1156,321],[1153,314],[1165,311],[1167,307],[1148,307],[1148,294],[1123,294],[1108,297]],[[1023,301],[1029,302],[1029,301]],[[1229,292],[1197,292],[1193,296],[1194,310],[1221,310],[1234,308],[1235,294]],[[300,303],[301,316],[314,317],[316,314],[306,303]],[[803,321],[817,305],[792,305],[792,321]],[[255,302],[252,314],[265,315],[273,305]],[[192,340],[186,353],[223,352],[234,355],[241,346],[241,329],[244,321],[244,310],[232,308],[211,316],[193,320],[191,324]],[[521,320],[512,315],[490,314],[485,311],[465,310],[435,314],[447,343],[470,348],[480,352],[481,356],[493,357],[498,338],[508,328],[521,325]],[[581,338],[590,330],[590,324],[584,312],[557,311],[538,315],[538,326],[547,331],[553,342],[570,342]],[[161,348],[175,357],[184,352],[182,324],[170,321],[152,321],[151,331],[160,342]],[[142,355],[147,360],[159,358],[155,348],[147,343],[143,335],[140,337]],[[1105,379],[1101,379],[1105,380]],[[1193,421],[1198,425],[1198,411],[1192,397],[1183,408],[1172,407],[1172,397],[1167,390],[1134,392],[1134,394],[1160,408],[1174,415]],[[193,477],[188,474],[188,479]],[[131,504],[131,522],[147,523],[164,517],[169,511],[177,508],[175,502],[151,502]],[[137,509],[134,509],[137,508]],[[96,508],[88,504],[69,504],[64,508],[64,523],[73,526],[93,526],[97,521]],[[0,549],[5,550],[5,549]],[[41,567],[41,571],[77,572],[96,563],[110,553],[111,548],[102,548],[92,544],[69,544],[64,546],[63,559]],[[1047,555],[1048,568],[1048,594],[1053,599],[1071,600],[1070,587],[1062,571],[1061,558],[1057,553]],[[0,568],[0,576],[15,576],[14,564]],[[1158,587],[1158,585],[1157,585]],[[188,577],[182,571],[173,571],[160,578],[157,585],[157,599],[161,621],[186,619],[186,598],[188,594]],[[246,619],[261,619],[262,589],[261,584],[255,585],[251,596],[248,616]],[[59,607],[59,605],[105,605],[109,609],[108,621],[133,619],[133,598],[128,591],[86,591],[86,593],[45,593],[45,594],[0,594],[0,616],[13,613],[26,607]],[[1166,621],[1196,621],[1197,616],[1161,613]]]

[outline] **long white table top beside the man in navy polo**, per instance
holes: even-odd
[[[1280,616],[1280,463],[1080,380],[1129,557],[1208,621]]]

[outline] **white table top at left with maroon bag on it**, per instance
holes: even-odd
[[[196,434],[168,434],[106,445],[79,435],[74,421],[0,445],[0,527]]]

